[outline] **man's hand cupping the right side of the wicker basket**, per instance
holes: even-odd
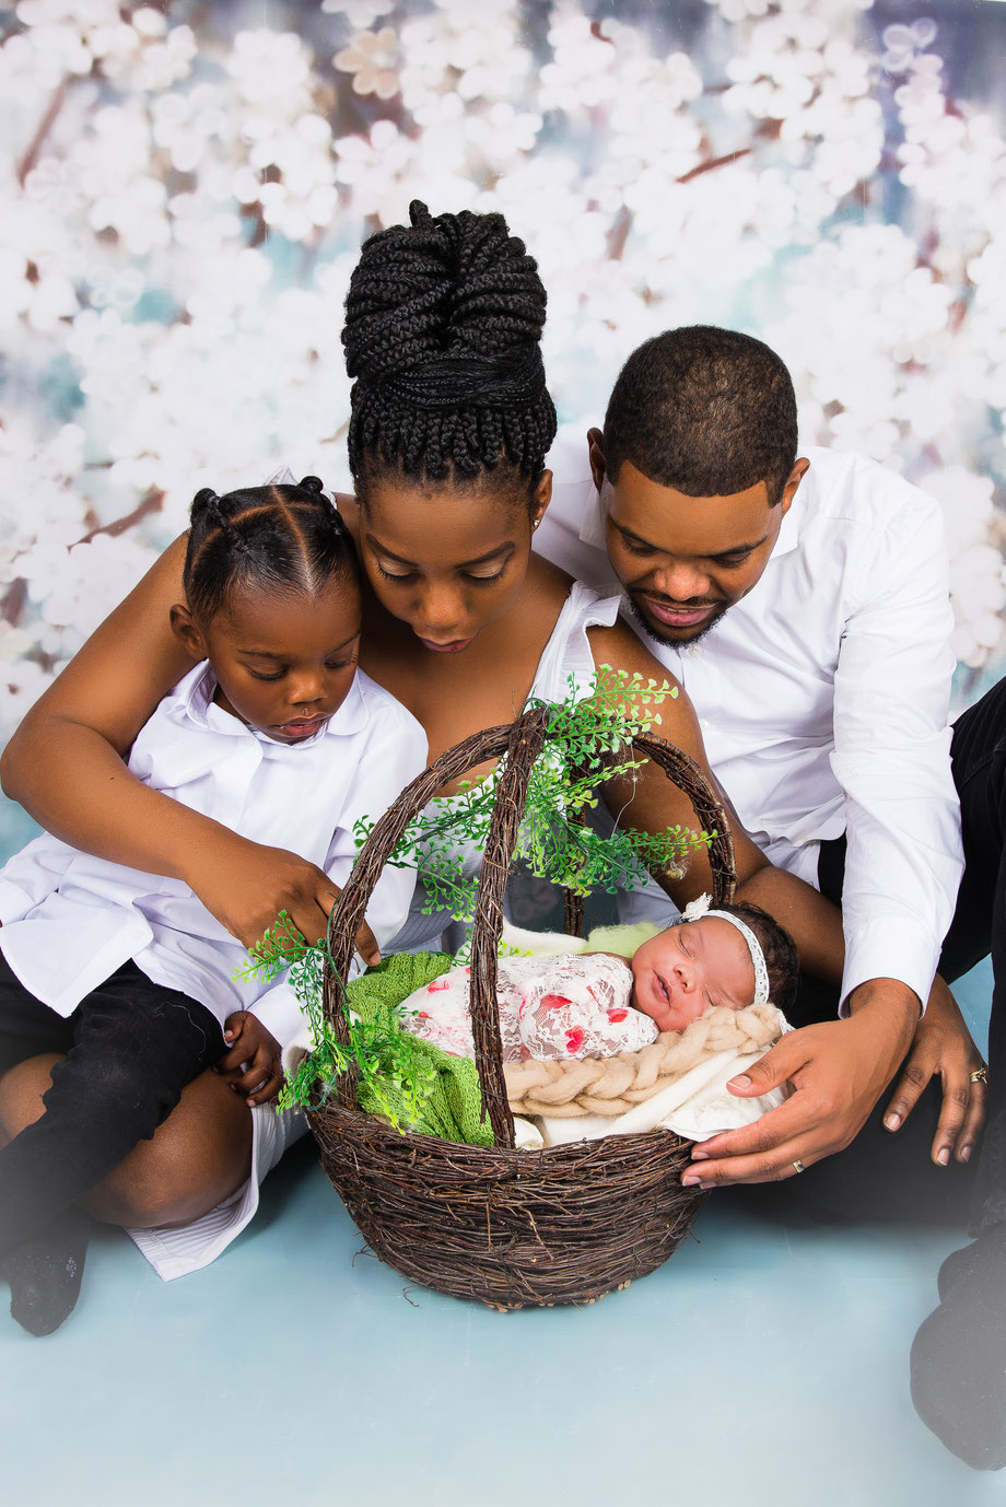
[[[682,1183],[723,1188],[794,1177],[842,1151],[863,1129],[905,1056],[919,1019],[916,995],[892,978],[873,978],[849,996],[848,1020],[791,1031],[727,1084],[744,1099],[788,1084],[791,1097],[751,1126],[727,1130],[693,1151]]]

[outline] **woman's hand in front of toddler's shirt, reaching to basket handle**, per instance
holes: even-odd
[[[220,829],[220,841],[196,851],[185,880],[206,910],[244,946],[253,946],[285,910],[309,942],[328,930],[339,886],[324,870],[285,848],[262,847]],[[355,936],[364,963],[381,961],[373,933],[360,922]]]

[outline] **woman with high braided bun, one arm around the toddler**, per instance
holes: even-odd
[[[360,665],[422,722],[432,760],[509,722],[532,689],[562,699],[569,674],[584,684],[602,665],[658,683],[666,672],[617,621],[617,598],[532,553],[556,429],[535,262],[498,214],[432,219],[413,205],[411,222],[366,243],[346,300],[357,494],[340,508],[369,586]],[[5,790],[75,847],[184,880],[245,945],[283,909],[318,937],[336,900],[321,870],[167,800],[122,763],[187,669],[169,628],[182,558],[178,541],[27,716],[3,760]],[[705,767],[684,693],[661,710],[664,735]],[[693,821],[687,797],[652,767],[636,784],[611,782],[605,799],[637,827]],[[837,910],[768,867],[739,830],[735,847],[741,897],[794,933],[806,967],[837,980]],[[670,892],[684,904],[708,885],[696,857]],[[35,1061],[17,1094],[0,1088],[0,1133],[39,1112],[48,1064]],[[247,1121],[205,1073],[95,1191],[92,1210],[131,1227],[205,1215],[247,1178]]]

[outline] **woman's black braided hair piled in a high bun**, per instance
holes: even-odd
[[[556,436],[538,265],[501,214],[408,212],[364,243],[346,295],[357,488],[381,464],[462,484],[509,466],[533,485]]]

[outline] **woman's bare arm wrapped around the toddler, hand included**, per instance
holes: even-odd
[[[184,561],[176,540],[32,707],[0,761],[3,790],[65,842],[181,879],[245,945],[280,910],[313,942],[339,894],[322,870],[248,842],[127,769],[137,732],[191,666],[169,618],[185,600]],[[357,942],[376,955],[367,928]]]

